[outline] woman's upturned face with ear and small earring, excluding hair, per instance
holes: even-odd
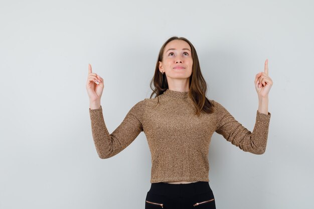
[[[170,78],[189,78],[192,74],[192,65],[190,45],[183,40],[173,40],[164,49],[159,70]]]

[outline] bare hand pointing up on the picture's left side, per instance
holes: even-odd
[[[96,82],[99,84],[97,84]],[[88,78],[86,83],[86,90],[89,101],[100,101],[103,88],[103,79],[96,73],[92,73],[92,66],[88,64]]]

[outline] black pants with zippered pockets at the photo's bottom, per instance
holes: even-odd
[[[145,199],[145,209],[216,208],[214,194],[208,181],[194,183],[151,183]]]

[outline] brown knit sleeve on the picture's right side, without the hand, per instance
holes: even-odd
[[[239,123],[220,103],[214,101],[216,112],[216,132],[227,141],[246,152],[263,154],[266,150],[268,128],[271,114],[256,112],[253,131],[249,131]]]

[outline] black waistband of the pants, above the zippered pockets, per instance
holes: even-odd
[[[197,181],[193,183],[151,183],[150,189],[148,192],[158,195],[166,195],[173,197],[184,197],[197,195],[201,193],[205,193],[211,191],[211,187],[208,181]]]

